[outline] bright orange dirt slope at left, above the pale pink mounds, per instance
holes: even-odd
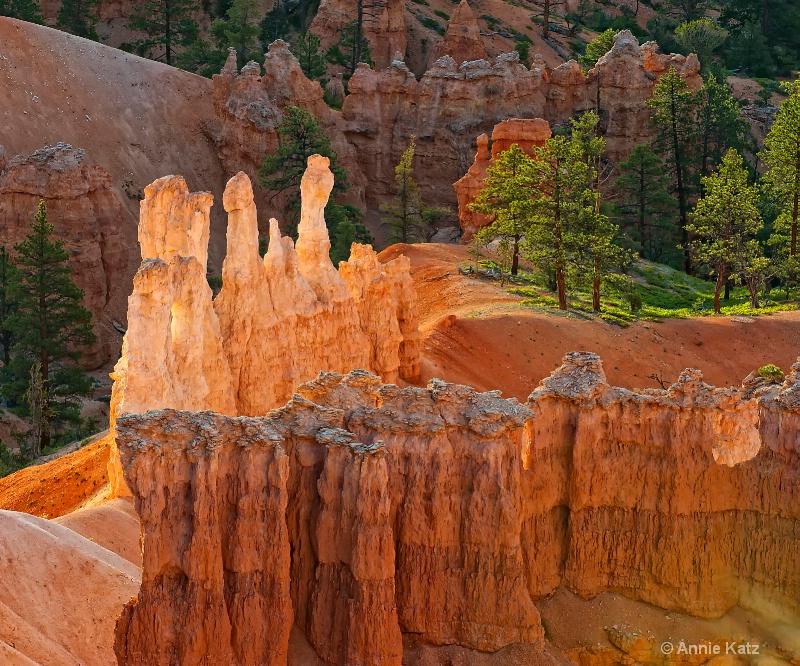
[[[0,479],[0,509],[56,518],[108,483],[108,436],[43,465]]]

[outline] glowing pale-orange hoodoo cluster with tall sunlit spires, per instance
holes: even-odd
[[[142,265],[113,374],[112,424],[122,413],[168,407],[263,415],[320,370],[418,378],[409,262],[381,264],[371,247],[354,245],[337,271],[323,216],[332,187],[328,159],[310,157],[297,247],[273,220],[262,259],[250,180],[234,176],[223,196],[228,251],[216,298],[206,279],[211,195],[190,193],[179,176],[146,188]],[[112,459],[114,485],[123,490]]]

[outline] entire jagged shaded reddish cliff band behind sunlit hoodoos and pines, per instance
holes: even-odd
[[[588,74],[572,60],[551,69],[534,57],[528,69],[516,53],[481,59],[470,38],[474,19],[470,23],[468,11],[459,7],[454,13],[448,29],[452,38],[443,40],[441,48],[453,50],[459,59],[476,54],[478,59],[460,62],[452,54],[442,55],[420,80],[402,59],[375,69],[359,65],[341,112],[327,106],[322,87],[303,75],[284,42],[270,45],[263,76],[257,63],[237,72],[232,56],[214,77],[215,119],[206,124],[225,168],[229,173],[242,169],[254,178],[264,154],[278,145],[275,130],[284,109],[293,105],[321,121],[348,171],[349,201],[377,210],[391,198],[394,168],[414,135],[416,172],[425,174],[417,178],[423,198],[429,205],[453,205],[452,183],[470,167],[476,137],[491,133],[503,120],[542,118],[563,125],[599,108],[608,156],[619,161],[649,138],[646,102],[663,72],[675,67],[690,88],[702,85],[696,56],[659,54],[654,42],[640,46],[629,31],[615,37],[614,47]],[[265,194],[258,196],[263,213],[272,212],[275,203]]]

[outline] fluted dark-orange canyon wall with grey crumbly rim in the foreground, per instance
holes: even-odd
[[[292,622],[348,666],[399,664],[404,633],[542,645],[533,602],[560,585],[702,617],[800,612],[800,361],[782,386],[715,389],[687,370],[634,393],[573,353],[526,405],[321,373],[266,417],[117,427],[145,549],[123,666],[199,664],[209,646],[285,664]],[[243,626],[245,599],[271,612]]]

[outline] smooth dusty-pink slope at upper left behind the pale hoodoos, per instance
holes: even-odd
[[[128,213],[130,276],[139,265],[137,189],[177,173],[190,188],[221,197],[225,174],[200,128],[213,117],[208,79],[0,17],[0,145],[11,157],[63,141],[83,148],[87,162],[111,174]],[[211,252],[219,261],[225,225],[222,206],[215,209]],[[115,306],[124,316],[120,300]]]

